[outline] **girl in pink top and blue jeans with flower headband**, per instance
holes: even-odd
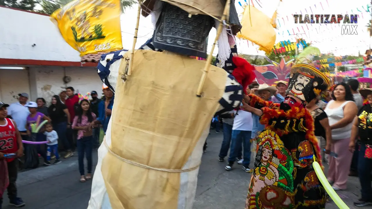
[[[92,179],[92,149],[93,149],[93,133],[92,127],[96,120],[96,114],[90,110],[88,100],[80,100],[77,115],[74,118],[72,128],[77,132],[77,150],[80,171],[80,182]],[[88,173],[84,174],[84,152],[88,161]]]

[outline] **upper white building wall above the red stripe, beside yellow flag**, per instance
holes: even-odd
[[[80,62],[49,18],[0,7],[0,58]]]

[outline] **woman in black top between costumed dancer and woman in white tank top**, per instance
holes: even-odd
[[[331,127],[328,123],[328,116],[324,110],[318,107],[318,98],[312,99],[307,105],[306,109],[310,112],[314,119],[314,135],[318,139],[320,152],[322,155],[323,162],[325,162],[325,154],[329,154],[332,144]],[[325,151],[323,151],[325,149]]]

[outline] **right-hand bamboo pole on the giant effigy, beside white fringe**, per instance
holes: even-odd
[[[219,35],[221,34],[222,32],[222,27],[224,25],[224,20],[226,20],[226,16],[227,16],[227,13],[228,13],[228,10],[230,8],[230,0],[226,0],[226,4],[225,4],[225,9],[224,9],[224,13],[222,13],[222,18],[221,18],[221,22],[219,23],[218,25],[218,28],[217,28],[217,34],[216,34],[216,38],[214,39],[214,43],[212,45],[212,49],[211,49],[211,53],[209,54],[208,58],[207,58],[207,61],[205,63],[205,66],[204,66],[204,72],[202,74],[202,78],[199,82],[199,87],[198,87],[198,90],[196,91],[196,96],[197,97],[201,97],[201,93],[202,93],[202,89],[203,89],[203,85],[204,85],[204,82],[205,82],[205,78],[207,77],[207,74],[208,74],[208,71],[209,71],[209,67],[211,65],[211,61],[212,61],[212,56],[213,56],[213,51],[214,51],[214,48],[216,46],[216,43],[218,41],[218,38],[219,38]],[[130,65],[129,65],[130,66]]]

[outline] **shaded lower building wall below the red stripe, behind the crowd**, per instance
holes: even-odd
[[[71,77],[71,82],[64,84],[63,77]],[[48,105],[52,96],[59,95],[66,87],[74,87],[76,93],[85,95],[97,91],[102,94],[102,81],[94,67],[28,67],[26,70],[0,69],[0,101],[17,102],[19,93],[28,93],[29,101],[43,97]]]

